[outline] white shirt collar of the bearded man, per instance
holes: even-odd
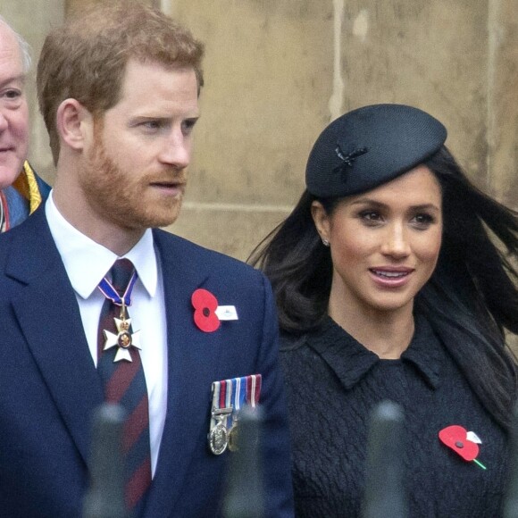
[[[120,257],[88,238],[66,221],[55,206],[52,194],[51,191],[45,206],[48,226],[71,280],[72,288],[79,297],[87,299]],[[135,265],[138,279],[149,296],[154,297],[158,273],[151,229],[147,229],[138,243],[123,257]]]

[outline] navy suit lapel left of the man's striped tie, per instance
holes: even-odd
[[[27,246],[38,239],[38,255]],[[85,462],[90,429],[85,417],[103,401],[79,307],[42,208],[13,239],[7,274],[21,282],[13,311],[55,405]]]

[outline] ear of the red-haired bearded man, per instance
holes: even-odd
[[[91,141],[94,118],[76,99],[65,99],[56,113],[56,126],[62,145],[82,151]]]

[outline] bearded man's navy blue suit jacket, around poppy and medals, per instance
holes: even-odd
[[[288,430],[272,292],[260,272],[162,230],[168,403],[142,516],[219,514],[229,452],[207,447],[215,380],[261,373],[266,516],[292,516]],[[206,288],[238,321],[212,333],[193,321]],[[152,325],[152,322],[151,322]],[[103,391],[79,307],[40,207],[0,236],[0,515],[71,518],[88,488],[90,417]]]

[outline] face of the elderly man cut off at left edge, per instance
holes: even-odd
[[[0,188],[18,177],[28,146],[29,112],[20,46],[0,22]]]

